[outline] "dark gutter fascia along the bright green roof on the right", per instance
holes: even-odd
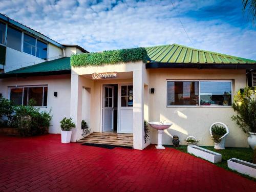
[[[256,64],[236,63],[236,64],[217,64],[217,63],[168,63],[152,62],[146,63],[146,69],[157,68],[179,68],[179,69],[247,69],[256,70]]]

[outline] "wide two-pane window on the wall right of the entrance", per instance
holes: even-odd
[[[229,80],[167,81],[167,106],[230,106]]]

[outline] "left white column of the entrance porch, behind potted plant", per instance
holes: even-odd
[[[82,105],[82,86],[80,77],[77,74],[71,75],[71,95],[70,95],[70,117],[76,127],[72,129],[71,141],[75,142],[78,138],[78,129],[81,129],[81,108]]]

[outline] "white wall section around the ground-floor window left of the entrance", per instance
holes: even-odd
[[[0,93],[8,98],[8,86],[36,86],[48,85],[47,108],[41,111],[51,111],[53,115],[49,133],[60,133],[59,121],[64,117],[70,117],[70,75],[54,75],[27,78],[0,79]],[[54,92],[58,93],[54,97]]]

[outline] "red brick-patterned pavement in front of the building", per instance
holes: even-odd
[[[173,148],[113,150],[60,135],[0,136],[0,191],[256,191],[256,182]]]

